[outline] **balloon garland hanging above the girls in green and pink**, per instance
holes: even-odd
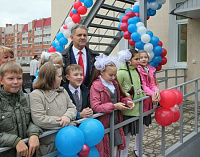
[[[147,0],[147,20],[150,16],[154,16],[156,10],[159,10],[165,2],[166,0]],[[162,48],[162,41],[154,36],[152,31],[147,30],[144,23],[141,22],[139,11],[139,2],[135,2],[132,9],[127,9],[125,14],[120,16],[118,28],[131,46],[148,53],[149,64],[159,71],[162,69],[162,65],[167,63],[165,57],[167,51]]]

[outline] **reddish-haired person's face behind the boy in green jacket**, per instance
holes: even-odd
[[[11,48],[0,46],[0,66],[7,61],[15,61],[14,52]]]

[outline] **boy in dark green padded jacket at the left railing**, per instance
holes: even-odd
[[[0,147],[16,148],[0,156],[33,156],[42,130],[30,119],[30,104],[22,92],[22,68],[15,62],[0,67]],[[22,139],[29,137],[27,146]]]

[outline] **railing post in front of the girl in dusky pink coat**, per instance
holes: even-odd
[[[110,114],[110,156],[114,157],[114,112]]]

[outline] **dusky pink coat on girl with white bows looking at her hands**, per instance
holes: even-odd
[[[118,93],[118,102],[127,103],[127,101],[132,101],[128,97],[120,96],[119,85],[117,81],[113,81],[113,84]],[[109,128],[110,123],[110,114],[115,110],[114,104],[111,102],[110,93],[107,88],[101,83],[100,79],[95,80],[92,83],[90,88],[90,103],[93,111],[95,113],[108,113],[106,115],[98,118],[101,123],[104,125],[104,128]],[[123,116],[121,112],[118,112],[119,122],[123,121]],[[123,150],[125,148],[125,136],[123,132],[123,128],[119,128],[119,132],[121,134],[121,138],[123,141],[123,145],[119,146],[119,150]],[[105,134],[103,140],[96,146],[99,151],[100,157],[110,157],[110,144],[109,144],[109,135]]]

